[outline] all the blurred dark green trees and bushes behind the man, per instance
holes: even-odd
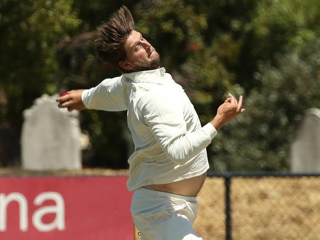
[[[207,148],[210,170],[287,171],[308,108],[320,106],[319,0],[1,0],[0,167],[21,165],[22,112],[43,94],[120,72],[94,53],[96,26],[127,5],[206,124],[227,93],[246,113]],[[126,112],[84,110],[85,168],[128,168]]]

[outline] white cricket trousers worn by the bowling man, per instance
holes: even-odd
[[[147,188],[134,191],[131,214],[141,240],[202,240],[193,230],[196,197]]]

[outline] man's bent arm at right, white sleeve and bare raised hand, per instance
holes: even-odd
[[[238,103],[229,95],[210,123],[187,132],[182,101],[177,94],[153,95],[144,108],[145,122],[161,148],[172,161],[180,165],[206,148],[217,135],[217,129],[220,130],[226,122],[244,111],[241,108],[242,96]]]

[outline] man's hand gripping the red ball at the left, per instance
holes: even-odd
[[[58,107],[64,108],[66,107],[68,111],[72,110],[83,110],[85,109],[85,105],[82,103],[81,94],[84,89],[71,90],[66,92],[63,96],[56,99],[59,103]]]

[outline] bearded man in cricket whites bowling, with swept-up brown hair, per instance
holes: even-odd
[[[128,111],[134,152],[128,159],[131,213],[141,240],[201,240],[192,229],[196,196],[209,168],[206,147],[222,126],[243,112],[229,94],[210,123],[201,127],[180,85],[160,68],[160,56],[133,29],[123,6],[97,28],[99,59],[123,72],[87,90],[57,99],[59,107]]]

